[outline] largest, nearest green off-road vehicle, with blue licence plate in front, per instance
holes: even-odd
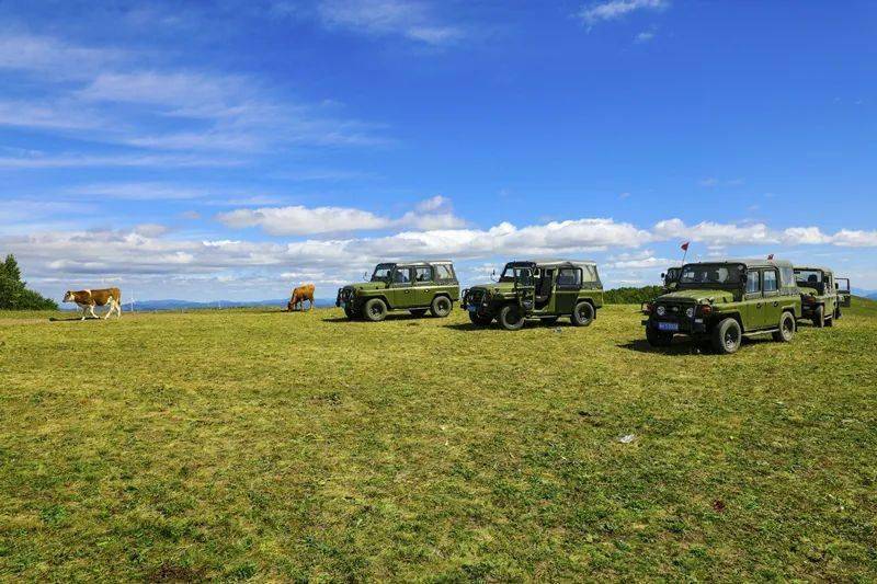
[[[736,353],[743,336],[772,333],[789,342],[801,316],[801,297],[789,262],[733,260],[685,264],[676,289],[643,307],[651,346],[676,334],[709,340],[716,352]]]

